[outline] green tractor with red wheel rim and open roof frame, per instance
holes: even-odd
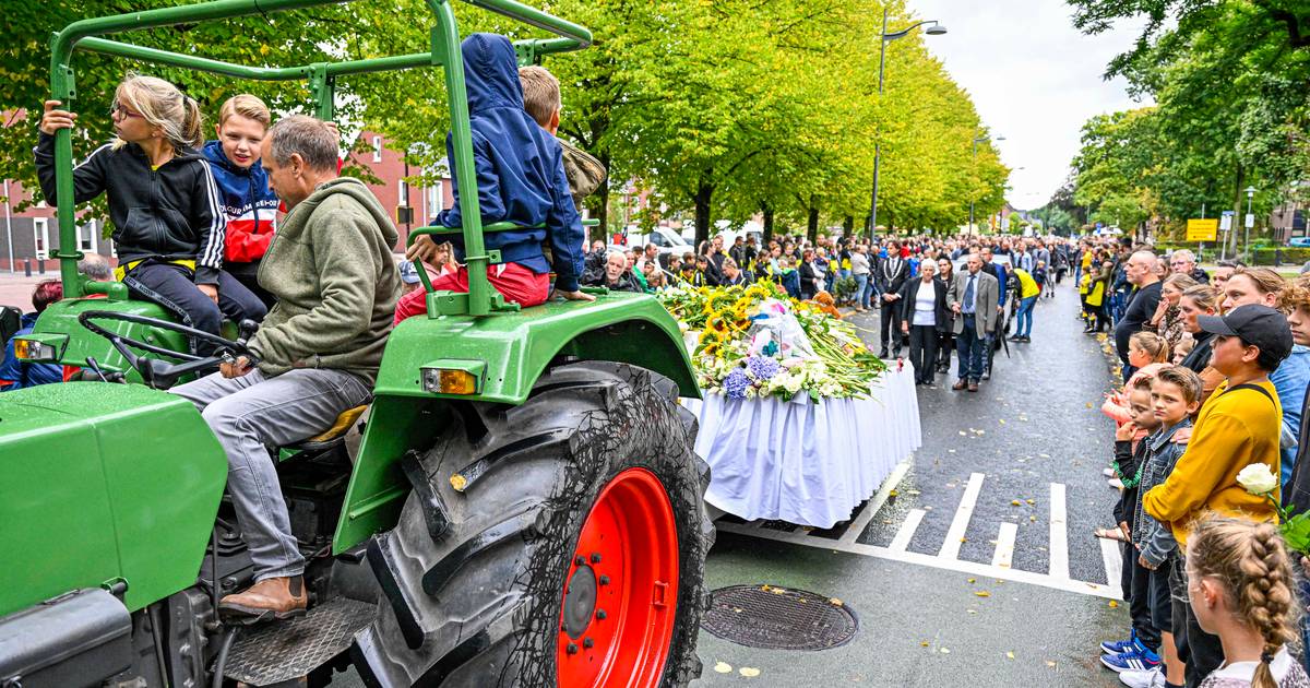
[[[252,562],[227,459],[195,408],[164,391],[216,363],[187,354],[212,335],[79,275],[75,208],[60,204],[66,299],[16,350],[94,380],[0,396],[0,687],[321,685],[351,666],[383,687],[686,685],[714,529],[696,419],[677,404],[698,394],[677,325],[645,295],[520,311],[490,287],[499,256],[482,237],[499,228],[481,227],[449,0],[427,0],[430,51],[368,60],[245,67],[101,38],[341,1],[77,21],[51,42],[52,98],[76,98],[75,50],[307,79],[325,119],[338,77],[440,67],[469,292],[427,284],[427,317],[390,334],[358,446],[347,431],[360,409],[269,447],[309,561],[309,609],[234,629],[217,599],[252,582]],[[515,0],[472,1],[558,35],[517,42],[521,63],[591,43]],[[69,131],[55,144],[71,198]],[[240,355],[249,334],[211,341]]]

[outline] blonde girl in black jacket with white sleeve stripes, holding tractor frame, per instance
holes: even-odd
[[[77,115],[46,101],[35,148],[46,202],[62,201],[55,183],[55,131]],[[267,308],[223,271],[225,219],[210,164],[196,149],[200,110],[173,84],[130,75],[111,107],[117,138],[73,168],[73,203],[107,194],[115,275],[131,295],[155,301],[186,325],[219,333],[223,317],[262,320]],[[212,345],[198,343],[200,355]]]

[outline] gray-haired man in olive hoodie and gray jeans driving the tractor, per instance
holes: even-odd
[[[305,612],[305,560],[266,447],[331,427],[372,397],[401,278],[398,233],[359,180],[337,176],[337,135],[293,115],[263,139],[269,186],[287,204],[259,270],[278,303],[250,355],[173,389],[193,401],[228,456],[228,491],[254,562],[255,584],[219,602],[253,624]]]

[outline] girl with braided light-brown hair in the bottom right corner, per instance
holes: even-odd
[[[1296,638],[1296,581],[1272,523],[1212,516],[1187,541],[1187,596],[1196,621],[1224,643],[1224,663],[1201,688],[1306,688],[1288,651]]]

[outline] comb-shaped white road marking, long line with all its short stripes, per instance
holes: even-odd
[[[905,520],[896,531],[896,536],[892,537],[888,546],[866,545],[855,541],[872,516],[882,508],[883,503],[886,503],[889,491],[895,489],[896,484],[899,484],[901,477],[904,477],[912,460],[913,457],[907,459],[897,467],[896,472],[893,472],[893,474],[883,484],[882,490],[879,490],[879,493],[870,499],[865,508],[861,510],[861,514],[852,522],[846,532],[837,540],[808,535],[804,531],[786,532],[762,528],[758,523],[719,522],[715,523],[715,526],[722,532],[743,535],[747,537],[758,537],[778,543],[812,546],[816,549],[828,549],[849,554],[900,561],[905,564],[929,566],[933,569],[965,573],[969,575],[1028,583],[1053,590],[1062,590],[1065,592],[1123,600],[1123,592],[1119,586],[1123,561],[1117,541],[1100,539],[1102,564],[1106,567],[1106,581],[1108,581],[1108,583],[1090,583],[1086,581],[1076,581],[1069,577],[1069,532],[1065,506],[1066,490],[1065,485],[1058,482],[1051,484],[1051,565],[1048,573],[1024,571],[1011,567],[1018,526],[1010,522],[1002,522],[1000,526],[1000,532],[997,533],[996,540],[996,550],[993,552],[990,564],[959,558],[960,543],[964,533],[968,531],[969,519],[972,518],[973,507],[977,503],[977,497],[985,478],[982,473],[973,473],[969,476],[968,486],[960,498],[960,505],[956,507],[955,516],[951,519],[951,526],[946,532],[946,541],[942,543],[937,554],[924,554],[909,550],[909,543],[914,537],[914,532],[918,529],[918,526],[926,514],[926,511],[921,508],[909,510],[905,515]]]

